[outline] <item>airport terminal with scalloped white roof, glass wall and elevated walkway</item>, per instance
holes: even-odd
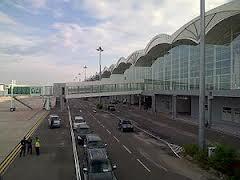
[[[240,125],[240,1],[206,13],[206,119]],[[105,68],[101,81],[66,83],[68,98],[125,97],[153,112],[198,119],[200,18]],[[113,93],[115,92],[115,93]]]

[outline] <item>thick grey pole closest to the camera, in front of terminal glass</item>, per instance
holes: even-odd
[[[205,142],[205,0],[200,0],[200,89],[199,89],[199,129],[198,145],[206,147]]]

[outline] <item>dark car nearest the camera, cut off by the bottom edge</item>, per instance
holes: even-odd
[[[117,180],[113,172],[117,166],[111,164],[105,149],[88,149],[85,156],[84,180]]]

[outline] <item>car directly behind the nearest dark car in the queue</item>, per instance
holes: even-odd
[[[84,141],[84,147],[86,149],[105,148],[106,146],[107,144],[104,143],[97,134],[86,135],[86,139]]]

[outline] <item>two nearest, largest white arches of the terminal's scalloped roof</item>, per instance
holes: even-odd
[[[240,14],[240,1],[235,0],[212,9],[206,13],[205,25],[206,34],[210,32],[217,24],[223,20]],[[236,22],[238,23],[238,22]],[[171,36],[167,34],[159,34],[153,37],[147,44],[141,55],[138,54],[136,61],[133,64],[146,64],[144,61],[151,61],[155,58],[157,53],[161,54],[161,50],[164,48],[170,49],[172,44],[178,41],[184,41],[188,43],[199,43],[199,33],[200,33],[200,17],[196,17],[191,20],[180,29],[178,29]],[[163,50],[164,51],[164,50]],[[140,62],[138,62],[140,61]]]

